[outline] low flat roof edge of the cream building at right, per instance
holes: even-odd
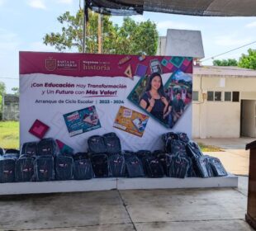
[[[238,67],[194,66],[193,73],[209,77],[256,78],[256,70]]]

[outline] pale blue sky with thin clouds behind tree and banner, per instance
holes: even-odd
[[[5,82],[8,93],[19,85],[19,51],[56,51],[43,44],[44,35],[60,31],[57,17],[66,11],[74,14],[78,8],[79,0],[0,0],[0,81]],[[256,40],[256,17],[202,17],[154,12],[131,17],[135,21],[154,21],[161,36],[166,35],[167,29],[201,31],[205,59]],[[122,19],[122,16],[111,17],[111,21],[119,25]],[[256,43],[216,59],[239,59],[249,48],[256,49]],[[212,59],[202,64],[211,65]]]

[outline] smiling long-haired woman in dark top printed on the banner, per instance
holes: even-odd
[[[164,94],[164,85],[159,73],[152,73],[149,76],[145,93],[140,98],[140,106],[160,121],[168,122],[166,121],[168,101]]]

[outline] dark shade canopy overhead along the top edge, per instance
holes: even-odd
[[[102,14],[128,16],[163,12],[192,16],[256,16],[255,0],[86,0]]]

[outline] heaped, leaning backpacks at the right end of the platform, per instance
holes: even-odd
[[[225,177],[227,172],[219,158],[203,155],[197,143],[185,133],[169,132],[162,136],[164,163],[168,177]]]

